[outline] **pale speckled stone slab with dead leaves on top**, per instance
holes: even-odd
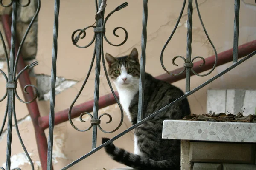
[[[256,142],[256,123],[164,120],[163,139]]]

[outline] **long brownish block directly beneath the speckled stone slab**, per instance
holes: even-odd
[[[189,160],[254,164],[255,144],[190,142]]]

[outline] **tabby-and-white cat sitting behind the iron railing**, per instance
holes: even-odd
[[[108,75],[119,93],[128,119],[137,123],[140,63],[134,48],[128,56],[113,57],[106,53]],[[154,68],[152,68],[154,69]],[[184,93],[177,87],[145,73],[143,118],[158,111]],[[180,170],[180,140],[162,139],[163,120],[182,119],[190,114],[189,102],[183,99],[135,128],[134,154],[119,149],[113,142],[105,146],[114,161],[141,170]],[[108,138],[102,138],[102,144]]]

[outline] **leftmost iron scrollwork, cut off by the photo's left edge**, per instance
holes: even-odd
[[[3,124],[1,126],[0,129],[0,136],[3,132],[3,128],[4,125],[6,123],[6,119],[8,117],[8,122],[7,122],[7,149],[6,149],[6,169],[3,167],[0,167],[1,170],[10,170],[11,169],[11,144],[12,144],[12,116],[14,118],[14,123],[15,123],[15,127],[16,127],[16,131],[17,131],[17,136],[20,140],[20,144],[23,147],[24,152],[26,153],[27,158],[29,159],[29,162],[31,164],[31,169],[34,170],[34,165],[32,162],[32,159],[29,156],[29,153],[26,150],[26,147],[23,143],[23,140],[20,136],[20,131],[18,128],[18,123],[17,123],[17,117],[16,117],[16,111],[15,111],[15,96],[17,97],[17,99],[20,102],[23,103],[31,103],[33,101],[35,101],[35,99],[38,96],[38,89],[34,86],[34,85],[26,85],[23,89],[23,91],[28,94],[27,92],[27,88],[32,87],[34,89],[34,97],[32,100],[30,101],[23,101],[22,99],[20,99],[19,95],[17,94],[17,81],[20,77],[20,75],[27,69],[29,68],[33,68],[36,65],[38,65],[38,62],[32,62],[31,64],[27,65],[25,68],[23,68],[16,76],[16,72],[17,72],[17,63],[18,63],[18,59],[20,56],[20,51],[22,49],[22,46],[24,44],[24,41],[26,39],[27,34],[29,33],[30,28],[32,27],[32,24],[34,23],[36,17],[38,16],[39,10],[40,10],[40,6],[41,6],[41,1],[38,0],[38,6],[37,6],[37,10],[31,20],[31,22],[29,23],[28,28],[26,29],[25,34],[23,35],[23,38],[20,42],[19,48],[17,50],[17,54],[15,57],[15,44],[16,44],[16,19],[17,19],[17,6],[20,7],[26,7],[29,6],[31,0],[28,0],[28,2],[26,4],[21,4],[19,0],[10,0],[9,4],[3,4],[3,0],[0,0],[0,5],[3,7],[10,7],[12,6],[12,37],[11,37],[11,49],[10,49],[10,59],[8,57],[7,54],[7,50],[6,50],[6,44],[3,40],[3,35],[0,31],[0,39],[3,43],[3,49],[5,52],[5,58],[6,58],[6,65],[7,65],[7,72],[8,72],[8,76],[4,73],[3,70],[0,69],[1,74],[3,74],[3,77],[6,79],[6,92],[4,94],[4,96],[0,99],[0,102],[2,102],[4,99],[6,99],[7,97],[7,104],[6,104],[6,111],[4,114],[4,119],[3,119]],[[20,168],[16,167],[12,170],[21,170]]]

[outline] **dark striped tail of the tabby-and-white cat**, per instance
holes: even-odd
[[[102,144],[110,140],[102,138]],[[104,147],[105,151],[114,161],[124,164],[128,167],[141,170],[176,170],[171,161],[154,161],[140,155],[129,153],[124,149],[116,147],[113,142]]]

